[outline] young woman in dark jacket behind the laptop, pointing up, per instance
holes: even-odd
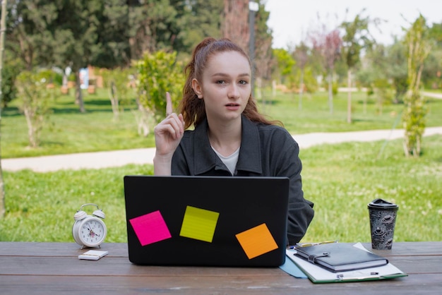
[[[155,175],[287,176],[287,243],[299,242],[313,219],[304,199],[299,146],[251,97],[251,61],[228,39],[205,38],[185,68],[179,114],[166,95],[166,119],[155,126]],[[193,126],[193,130],[188,130]]]

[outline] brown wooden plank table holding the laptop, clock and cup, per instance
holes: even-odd
[[[133,265],[126,243],[104,243],[102,250],[109,255],[78,260],[86,250],[76,243],[0,242],[0,294],[442,294],[442,241],[374,251],[408,277],[332,284],[297,279],[278,267]]]

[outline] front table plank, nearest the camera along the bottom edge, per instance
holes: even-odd
[[[422,277],[425,277],[423,279]],[[440,275],[371,282],[313,284],[289,275],[270,277],[0,276],[1,294],[440,294]]]

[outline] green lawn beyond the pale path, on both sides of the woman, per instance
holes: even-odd
[[[121,113],[114,121],[107,92],[99,89],[96,95],[85,96],[85,114],[78,112],[73,97],[63,96],[54,103],[54,113],[42,131],[39,148],[28,147],[28,127],[25,117],[18,112],[16,103],[3,110],[1,119],[1,157],[32,157],[39,155],[67,154],[72,152],[94,152],[100,150],[125,150],[148,148],[155,145],[153,132],[147,137],[138,136],[137,125],[131,109]],[[270,92],[264,92],[270,97]],[[390,104],[379,113],[372,100],[364,111],[362,92],[352,94],[353,123],[347,123],[347,94],[334,97],[333,114],[328,108],[324,92],[304,95],[302,109],[298,96],[279,93],[275,99],[258,101],[262,112],[273,119],[279,119],[292,134],[309,132],[357,131],[370,129],[400,128],[398,116],[402,104]],[[426,103],[429,113],[426,126],[442,126],[442,100],[429,99]]]

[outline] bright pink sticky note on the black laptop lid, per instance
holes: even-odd
[[[141,215],[129,220],[141,246],[149,245],[172,237],[160,211]]]

